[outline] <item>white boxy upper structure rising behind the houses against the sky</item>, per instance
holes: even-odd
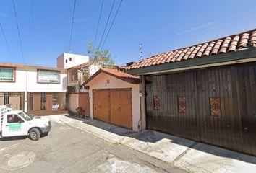
[[[72,58],[72,60],[70,61],[69,58]],[[82,56],[74,53],[63,53],[57,58],[57,67],[67,69],[73,66],[80,65],[81,63],[87,63],[88,61],[89,56]]]

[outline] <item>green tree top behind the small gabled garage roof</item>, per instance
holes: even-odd
[[[114,66],[116,63],[115,59],[111,57],[110,50],[100,50],[99,48],[93,50],[93,43],[89,43],[87,53],[90,61],[95,61],[100,67]]]

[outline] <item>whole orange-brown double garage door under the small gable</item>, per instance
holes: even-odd
[[[132,129],[132,90],[93,89],[93,117]]]

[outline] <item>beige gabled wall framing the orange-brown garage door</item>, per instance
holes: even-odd
[[[106,83],[109,80],[109,84]],[[87,86],[90,86],[90,115],[93,117],[93,89],[117,89],[117,88],[132,88],[132,130],[139,131],[138,125],[140,125],[140,85],[130,84],[126,81],[115,78],[108,74],[98,74],[90,81]]]

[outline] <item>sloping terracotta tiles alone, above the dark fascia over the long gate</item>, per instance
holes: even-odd
[[[256,48],[256,28],[240,34],[223,37],[207,43],[189,46],[172,50],[166,53],[160,53],[146,58],[143,61],[132,64],[127,69],[142,68],[154,66],[161,63],[174,63],[177,61],[189,61],[190,58],[201,58],[202,56],[211,56],[218,53],[228,53],[252,46]]]

